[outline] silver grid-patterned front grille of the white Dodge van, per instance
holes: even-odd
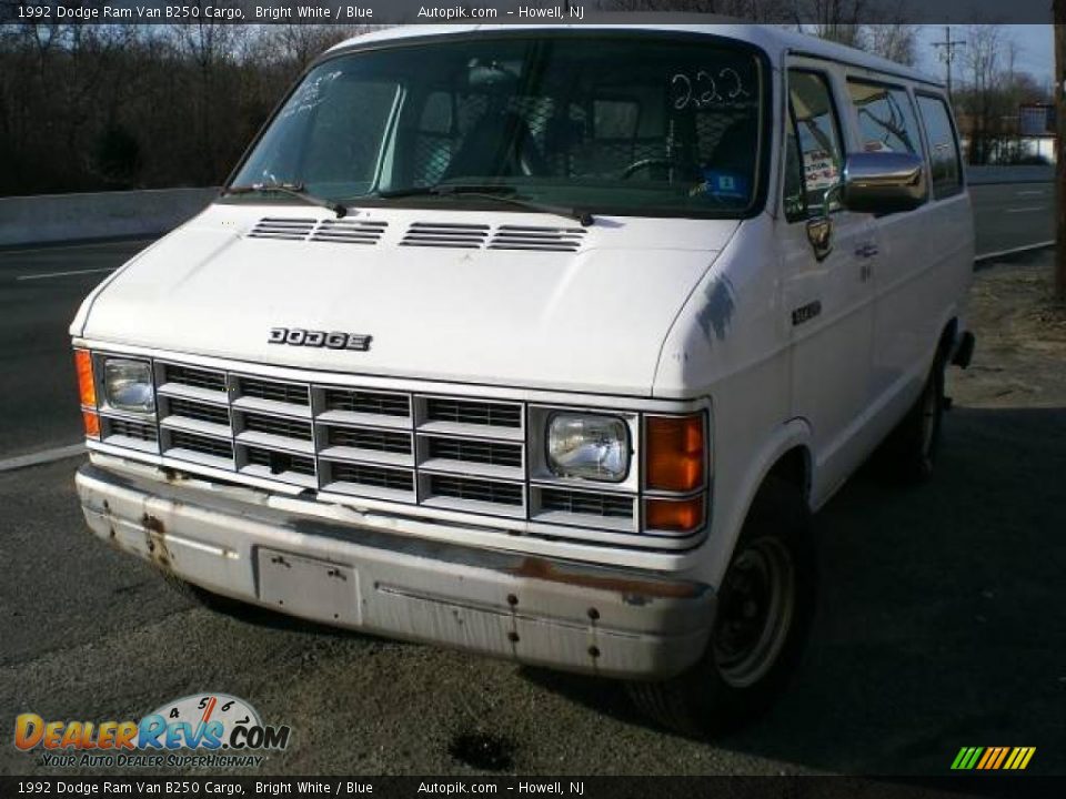
[[[103,413],[102,441],[90,446],[159,454],[271,490],[320,492],[324,502],[454,514],[455,524],[501,534],[644,549],[693,540],[640,536],[638,473],[610,490],[551,475],[540,448],[551,409],[540,405],[318,384],[291,378],[294,371],[282,378],[163,361],[154,368],[158,426]]]

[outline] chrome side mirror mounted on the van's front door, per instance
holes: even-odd
[[[912,153],[851,153],[844,161],[841,203],[848,211],[889,214],[925,202],[925,161]]]

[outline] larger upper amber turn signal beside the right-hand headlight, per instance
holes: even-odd
[[[645,423],[647,487],[676,492],[702,488],[706,441],[703,414],[647,416]]]

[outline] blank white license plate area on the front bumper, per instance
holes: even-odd
[[[350,566],[260,547],[259,598],[279,610],[326,623],[358,625],[359,575]]]

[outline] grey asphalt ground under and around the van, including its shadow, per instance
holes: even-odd
[[[139,246],[0,253],[0,462],[78,439],[67,325],[94,270]],[[1003,352],[978,348],[975,367],[1006,380]],[[220,690],[294,730],[261,773],[936,775],[988,745],[1036,746],[1030,771],[1062,773],[1066,392],[956,390],[931,484],[863,472],[817,516],[823,588],[794,685],[714,744],[648,727],[613,684],[204,609],[90,536],[79,458],[0,471],[0,725],[140,718]],[[0,747],[0,773],[34,771]]]

